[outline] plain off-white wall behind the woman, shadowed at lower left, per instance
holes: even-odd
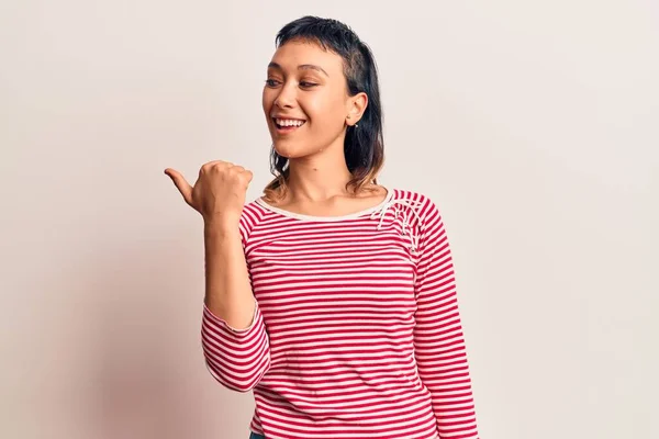
[[[0,437],[243,439],[201,352],[199,214],[163,173],[270,180],[277,31],[349,24],[380,68],[380,181],[451,241],[487,439],[659,438],[654,1],[4,0]]]

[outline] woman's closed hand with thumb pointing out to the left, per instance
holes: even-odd
[[[204,221],[237,224],[245,205],[245,194],[252,172],[227,161],[215,160],[203,165],[191,187],[180,172],[167,168],[168,175],[183,200],[201,214]]]

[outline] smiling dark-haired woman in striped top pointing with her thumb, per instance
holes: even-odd
[[[371,52],[304,16],[277,35],[263,106],[276,179],[205,164],[206,365],[254,391],[253,439],[477,438],[444,224],[426,196],[384,188]]]

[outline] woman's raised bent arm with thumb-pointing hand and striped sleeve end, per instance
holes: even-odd
[[[270,368],[270,346],[254,299],[243,248],[243,207],[252,172],[215,160],[203,165],[194,187],[166,169],[186,203],[204,219],[205,299],[201,340],[211,374],[248,392]]]

